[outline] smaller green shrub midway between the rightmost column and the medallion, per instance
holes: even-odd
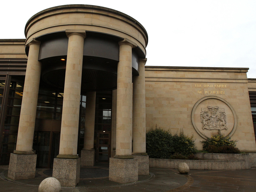
[[[174,153],[180,153],[181,155],[188,156],[197,152],[193,136],[188,137],[184,135],[183,131],[180,131],[179,135],[177,133],[172,135],[172,141]]]

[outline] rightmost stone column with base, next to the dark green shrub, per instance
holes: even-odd
[[[138,174],[149,174],[149,159],[146,153],[146,95],[145,95],[145,64],[147,59],[140,59],[139,76],[133,77],[133,151],[138,159]]]

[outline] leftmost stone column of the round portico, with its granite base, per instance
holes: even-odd
[[[13,180],[35,178],[36,155],[33,152],[33,138],[36,120],[36,106],[41,75],[41,62],[38,61],[40,41],[31,39],[28,63],[20,110],[20,122],[16,150],[10,156],[8,177]]]

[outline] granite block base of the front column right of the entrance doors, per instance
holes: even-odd
[[[118,183],[138,181],[138,159],[109,158],[109,180]]]

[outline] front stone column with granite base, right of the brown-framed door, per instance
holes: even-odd
[[[138,161],[132,156],[132,48],[128,39],[119,42],[117,65],[116,155],[109,159],[109,180],[138,181]]]

